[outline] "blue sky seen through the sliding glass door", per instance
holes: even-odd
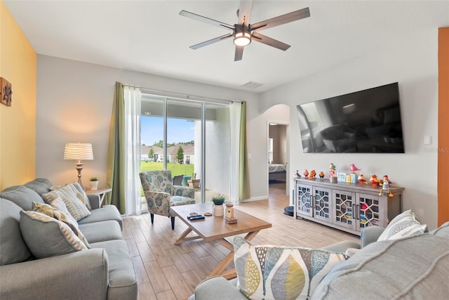
[[[140,143],[153,145],[163,140],[162,117],[140,117]],[[186,119],[167,119],[167,143],[194,141],[194,122]]]

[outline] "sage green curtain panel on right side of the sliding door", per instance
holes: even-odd
[[[239,141],[239,200],[250,198],[250,174],[246,147],[246,102],[241,103]]]

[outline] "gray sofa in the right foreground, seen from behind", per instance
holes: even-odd
[[[431,233],[377,242],[383,229],[363,230],[361,249],[330,270],[310,299],[448,299],[449,222]],[[345,252],[357,247],[340,242],[326,249]],[[204,280],[189,300],[247,299],[236,282]]]

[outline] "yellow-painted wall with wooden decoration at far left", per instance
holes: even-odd
[[[11,107],[0,103],[0,190],[36,174],[36,70],[36,51],[0,0],[0,77],[13,87]]]

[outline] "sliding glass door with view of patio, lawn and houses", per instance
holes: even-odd
[[[232,200],[229,105],[143,94],[141,120],[143,171],[172,171],[198,203],[217,194]]]

